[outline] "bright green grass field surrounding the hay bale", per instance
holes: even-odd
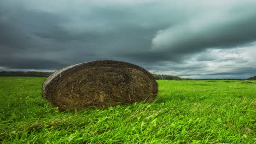
[[[158,81],[153,103],[61,112],[45,77],[0,77],[2,143],[255,143],[256,83]]]

